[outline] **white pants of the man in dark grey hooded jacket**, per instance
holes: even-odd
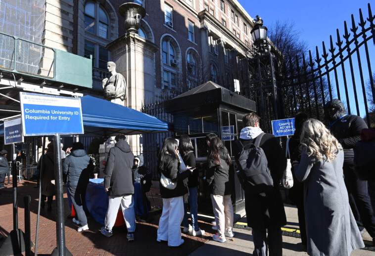
[[[133,195],[120,197],[109,196],[108,199],[109,202],[107,214],[105,216],[105,228],[111,230],[115,225],[117,213],[121,206],[126,228],[128,229],[128,232],[134,232],[136,230],[136,215],[134,213]]]

